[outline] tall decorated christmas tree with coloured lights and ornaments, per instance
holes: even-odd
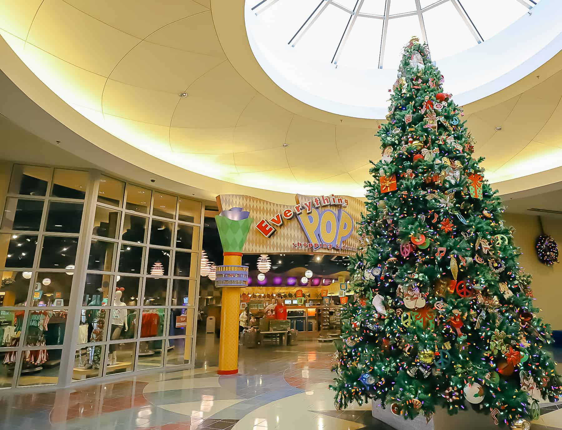
[[[501,199],[474,159],[463,110],[427,44],[404,48],[382,158],[365,183],[330,386],[337,409],[374,399],[405,419],[473,408],[500,425],[538,418],[560,376]]]

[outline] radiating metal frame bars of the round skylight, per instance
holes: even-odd
[[[251,8],[252,11],[255,11],[256,15],[263,12],[267,8],[273,6],[273,4],[277,3],[279,0],[261,0],[255,6]],[[350,14],[350,17],[347,21],[345,29],[341,37],[339,38],[338,45],[334,51],[334,55],[332,57],[332,64],[337,67],[339,58],[341,57],[342,52],[345,49],[346,42],[350,36],[351,31],[353,30],[353,26],[357,20],[357,17],[365,17],[371,19],[379,19],[383,20],[383,28],[382,28],[382,35],[380,38],[380,48],[379,48],[379,61],[378,67],[383,68],[384,62],[384,50],[386,48],[386,39],[387,39],[387,32],[388,32],[388,21],[392,19],[398,19],[406,16],[418,16],[419,26],[420,26],[420,34],[422,35],[422,39],[424,42],[427,42],[427,32],[425,31],[425,24],[423,19],[423,14],[434,7],[440,6],[444,3],[451,3],[459,16],[463,20],[466,27],[469,29],[470,33],[473,35],[475,41],[477,43],[484,42],[484,38],[482,34],[478,30],[477,26],[474,24],[474,21],[470,18],[468,12],[466,12],[463,1],[464,0],[437,0],[435,3],[429,4],[428,6],[422,7],[420,4],[420,0],[414,0],[416,10],[410,12],[403,12],[403,13],[395,13],[394,15],[390,15],[390,5],[392,0],[386,0],[384,4],[384,15],[376,15],[373,13],[363,13],[361,12],[361,7],[363,6],[365,0],[356,0],[355,6],[353,10],[350,10],[343,4],[338,3],[334,0],[320,0],[318,6],[314,8],[312,13],[310,13],[309,17],[302,23],[300,28],[294,33],[292,38],[289,40],[288,44],[294,48],[294,46],[298,43],[298,41],[306,34],[306,32],[311,28],[314,22],[319,18],[319,16],[327,9],[328,6],[332,5],[345,11]],[[523,6],[527,7],[529,10],[533,8],[537,4],[535,0],[513,0],[514,2],[518,2],[523,4]],[[257,11],[256,11],[257,10]],[[531,12],[529,12],[531,13]]]

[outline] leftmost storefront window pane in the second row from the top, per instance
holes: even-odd
[[[43,205],[43,200],[8,197],[2,217],[2,228],[6,230],[39,231]]]

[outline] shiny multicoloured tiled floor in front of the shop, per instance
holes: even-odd
[[[148,374],[78,390],[0,397],[0,429],[270,430],[387,429],[370,405],[334,410],[328,390],[332,344],[241,347],[240,373],[217,376],[218,340],[200,335],[199,368]],[[559,351],[557,351],[559,352]],[[562,428],[562,409],[543,405],[533,430]]]

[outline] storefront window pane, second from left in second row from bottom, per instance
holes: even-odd
[[[67,310],[30,310],[25,346],[62,345],[67,316]]]

